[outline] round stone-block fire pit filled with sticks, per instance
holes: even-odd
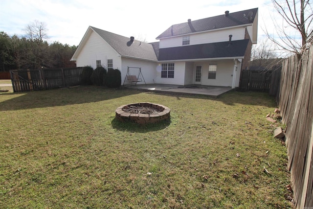
[[[156,123],[170,118],[171,110],[164,106],[148,102],[123,105],[115,110],[115,118],[125,122],[139,124]]]

